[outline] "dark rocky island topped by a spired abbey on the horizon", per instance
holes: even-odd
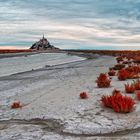
[[[42,37],[38,42],[34,43],[31,47],[31,50],[59,50],[59,48],[54,47],[50,44],[47,38]]]

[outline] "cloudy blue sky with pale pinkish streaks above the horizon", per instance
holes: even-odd
[[[0,48],[140,50],[140,0],[0,0]]]

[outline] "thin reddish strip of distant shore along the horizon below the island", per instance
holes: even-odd
[[[67,53],[68,55],[77,55],[80,57],[86,57],[92,59],[96,55],[108,55],[108,56],[119,56],[119,55],[140,55],[140,50],[46,50],[46,51],[34,51],[30,49],[19,49],[19,50],[8,50],[0,49],[0,59],[9,57],[22,57],[28,55],[35,55],[39,53]]]

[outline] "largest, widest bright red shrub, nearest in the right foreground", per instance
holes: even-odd
[[[112,108],[118,113],[129,113],[134,107],[134,101],[132,98],[122,96],[120,93],[112,93],[112,95],[102,96],[102,105]]]

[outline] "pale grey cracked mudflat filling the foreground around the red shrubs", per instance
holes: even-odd
[[[98,74],[107,72],[114,63],[114,58],[105,56],[0,78],[0,136],[7,138],[4,134],[12,131],[12,127],[13,133],[9,137],[15,134],[16,129],[27,134],[22,127],[32,130],[32,125],[35,125],[36,129],[32,131],[37,131],[41,138],[50,136],[49,139],[90,139],[85,136],[112,136],[113,132],[123,135],[130,132],[130,136],[139,137],[139,103],[136,110],[129,114],[113,113],[100,106],[102,94],[110,94],[114,87],[123,91],[124,82],[117,81],[116,77],[112,79],[111,88],[96,88],[95,79]],[[88,92],[87,100],[79,99],[81,91]],[[10,110],[9,105],[15,100],[25,106]],[[44,120],[50,122],[47,132],[36,126],[37,120],[41,128],[45,125]],[[50,128],[54,130],[50,132]]]

